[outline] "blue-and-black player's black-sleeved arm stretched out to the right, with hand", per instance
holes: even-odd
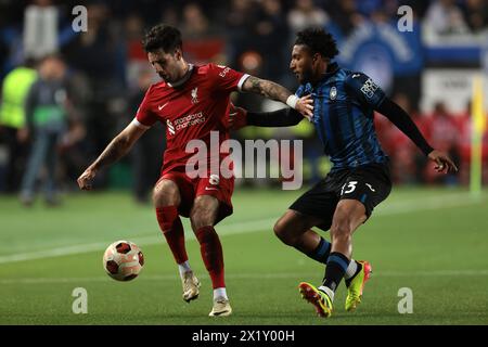
[[[385,98],[384,101],[375,108],[377,112],[388,118],[398,129],[416,144],[431,160],[436,162],[436,170],[438,172],[458,171],[458,167],[451,158],[440,151],[434,150],[420,132],[416,125],[398,104]]]

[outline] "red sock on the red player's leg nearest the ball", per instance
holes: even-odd
[[[188,260],[184,247],[184,231],[176,206],[156,207],[157,222],[165,235],[175,261],[182,264]]]

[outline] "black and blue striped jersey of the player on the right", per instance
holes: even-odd
[[[332,171],[388,160],[373,124],[374,108],[386,97],[370,77],[332,63],[319,82],[301,85],[295,94],[313,99],[311,121]]]

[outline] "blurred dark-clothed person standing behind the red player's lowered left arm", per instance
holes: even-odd
[[[88,30],[63,48],[69,66],[89,81],[87,157],[105,147],[116,132],[118,113],[126,102],[126,42],[123,26],[111,21],[107,4],[87,5]],[[106,174],[99,177],[105,182]]]

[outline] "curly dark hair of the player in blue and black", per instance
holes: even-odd
[[[296,35],[295,44],[305,44],[312,54],[320,53],[329,59],[333,59],[339,53],[334,37],[324,29],[317,27],[299,31]]]

